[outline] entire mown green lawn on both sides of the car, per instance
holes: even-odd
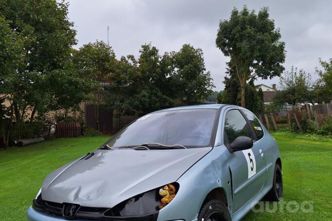
[[[250,212],[243,220],[331,221],[332,143],[275,137],[283,160],[284,206],[279,204],[275,213]],[[0,150],[0,221],[26,220],[26,210],[45,175],[94,150],[107,139],[106,136],[62,138]],[[314,212],[287,212],[287,203],[291,201],[299,204],[309,201]]]

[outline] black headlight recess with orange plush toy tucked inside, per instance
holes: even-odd
[[[155,213],[174,199],[178,189],[179,184],[172,183],[141,193],[117,204],[108,210],[105,216],[139,216]]]

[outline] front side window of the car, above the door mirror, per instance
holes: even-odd
[[[227,112],[224,130],[229,144],[238,136],[248,136],[254,140],[251,129],[239,110],[230,110]]]

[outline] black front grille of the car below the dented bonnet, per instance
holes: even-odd
[[[41,195],[39,195],[37,199],[33,201],[33,207],[38,211],[54,214],[57,216],[63,216],[70,220],[81,218],[87,220],[105,221],[156,221],[158,217],[158,212],[141,216],[120,216],[116,206],[113,209],[79,206],[76,214],[74,214],[72,217],[68,217],[64,216],[63,214],[64,204],[45,201],[41,198]]]

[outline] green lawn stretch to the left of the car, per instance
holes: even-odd
[[[61,138],[0,150],[0,221],[26,221],[45,176],[98,148],[107,136]]]

